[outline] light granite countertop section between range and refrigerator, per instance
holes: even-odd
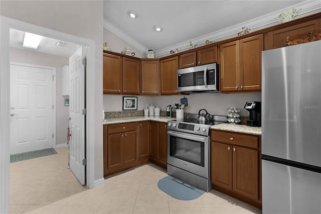
[[[211,129],[238,132],[252,135],[261,135],[261,127],[251,127],[246,125],[237,125],[237,124],[219,124],[211,126]]]

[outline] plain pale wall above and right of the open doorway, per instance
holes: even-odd
[[[74,35],[94,42],[94,70],[88,87],[94,90],[88,94],[93,100],[94,115],[88,118],[89,146],[94,150],[94,180],[103,178],[103,126],[102,111],[102,45],[103,45],[103,1],[0,1],[1,16],[27,22],[33,25]]]

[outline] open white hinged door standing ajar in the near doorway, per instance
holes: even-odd
[[[69,58],[70,69],[70,94],[69,94],[69,165],[81,184],[85,184],[85,116],[82,110],[85,109],[85,65],[84,48],[80,48]]]

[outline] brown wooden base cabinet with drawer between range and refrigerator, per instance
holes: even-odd
[[[211,131],[213,188],[262,208],[260,137]]]

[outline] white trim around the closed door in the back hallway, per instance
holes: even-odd
[[[50,67],[50,66],[43,66],[43,65],[33,65],[33,64],[27,64],[27,63],[21,63],[21,62],[12,62],[10,61],[10,65],[18,65],[18,66],[25,66],[25,67],[33,67],[33,68],[43,68],[43,69],[49,69],[52,70],[53,72],[53,82],[52,82],[52,102],[54,105],[54,108],[52,110],[52,132],[54,134],[53,139],[52,139],[52,148],[56,149],[56,68],[55,67]],[[10,100],[9,100],[10,101]],[[11,131],[11,130],[10,130]]]

